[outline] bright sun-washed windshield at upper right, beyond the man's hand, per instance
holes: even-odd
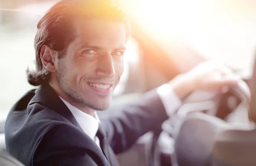
[[[129,0],[123,1],[123,6],[166,50],[182,40],[201,56],[235,70],[252,66],[256,1]]]

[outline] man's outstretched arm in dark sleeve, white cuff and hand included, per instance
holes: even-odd
[[[120,108],[120,115],[102,119],[111,147],[115,153],[122,152],[141,135],[160,128],[168,115],[178,109],[180,101],[194,90],[226,92],[227,87],[236,86],[239,79],[231,70],[215,62],[204,62],[188,73],[176,76],[167,84],[167,89],[152,90],[140,101]],[[160,91],[165,91],[166,96],[164,93],[160,95]]]

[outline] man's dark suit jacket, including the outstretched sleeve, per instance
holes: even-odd
[[[120,112],[101,119],[114,153],[128,149],[168,118],[155,90]],[[48,84],[17,101],[6,120],[5,135],[7,151],[26,166],[109,166],[101,149]]]

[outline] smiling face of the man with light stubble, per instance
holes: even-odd
[[[125,26],[102,20],[75,22],[77,38],[58,60],[56,76],[72,102],[106,110],[123,73]]]

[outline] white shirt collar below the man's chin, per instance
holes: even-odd
[[[60,97],[60,96],[59,96]],[[60,97],[61,98],[61,97]],[[66,104],[67,108],[70,110],[70,112],[73,114],[75,117],[76,121],[82,128],[82,130],[89,135],[90,138],[95,140],[96,133],[99,129],[99,117],[96,113],[94,112],[94,116],[91,116],[87,113],[84,113],[83,111],[79,110],[78,108],[74,107],[71,105],[69,102],[61,98],[61,100]]]

